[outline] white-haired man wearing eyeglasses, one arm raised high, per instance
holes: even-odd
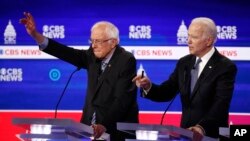
[[[104,132],[112,141],[128,135],[116,130],[116,122],[138,122],[134,56],[119,46],[119,30],[110,22],[98,22],[91,28],[90,48],[77,50],[44,37],[37,32],[30,13],[20,23],[39,44],[39,49],[69,62],[88,73],[88,88],[81,122],[92,125],[94,138]]]

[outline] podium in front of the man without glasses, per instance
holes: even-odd
[[[117,123],[117,129],[134,134],[136,139],[126,141],[192,141],[193,132],[171,125],[152,125],[137,123]],[[218,139],[204,136],[202,141],[218,141]]]

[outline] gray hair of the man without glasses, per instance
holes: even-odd
[[[198,18],[194,18],[191,22],[192,23],[198,23],[201,24],[204,28],[204,32],[206,36],[212,36],[213,38],[213,43],[216,42],[217,40],[217,28],[215,25],[215,22],[207,17],[198,17]]]

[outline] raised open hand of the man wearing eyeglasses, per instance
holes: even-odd
[[[45,37],[37,32],[33,16],[27,12],[24,12],[24,16],[25,18],[20,19],[19,22],[25,26],[27,33],[35,39],[38,44],[42,43]]]

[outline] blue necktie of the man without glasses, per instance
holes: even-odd
[[[201,58],[199,58],[191,70],[191,87],[190,87],[191,94],[193,92],[196,81],[198,80],[199,64],[201,61],[202,61]]]

